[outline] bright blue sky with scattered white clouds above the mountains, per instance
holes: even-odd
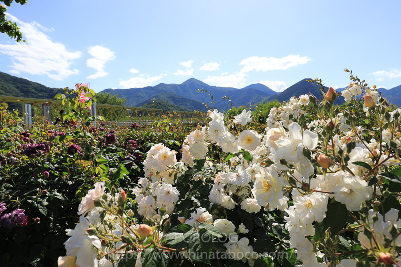
[[[263,83],[283,91],[304,78],[401,85],[394,1],[28,0],[13,3],[26,43],[0,35],[0,71],[49,87],[132,88]]]

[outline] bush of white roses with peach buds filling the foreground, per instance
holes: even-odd
[[[214,110],[180,161],[152,146],[138,185],[126,194],[109,184],[60,261],[81,266],[83,253],[93,261],[82,266],[399,266],[400,110],[350,78],[344,105],[316,79],[324,100],[272,108],[264,132],[249,129],[247,112],[233,122]]]

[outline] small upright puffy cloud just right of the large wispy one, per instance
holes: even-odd
[[[91,54],[92,58],[86,60],[86,66],[94,68],[97,72],[86,78],[96,79],[106,76],[108,73],[104,71],[104,65],[107,61],[115,59],[114,51],[111,51],[107,47],[97,45],[90,47],[88,52]]]

